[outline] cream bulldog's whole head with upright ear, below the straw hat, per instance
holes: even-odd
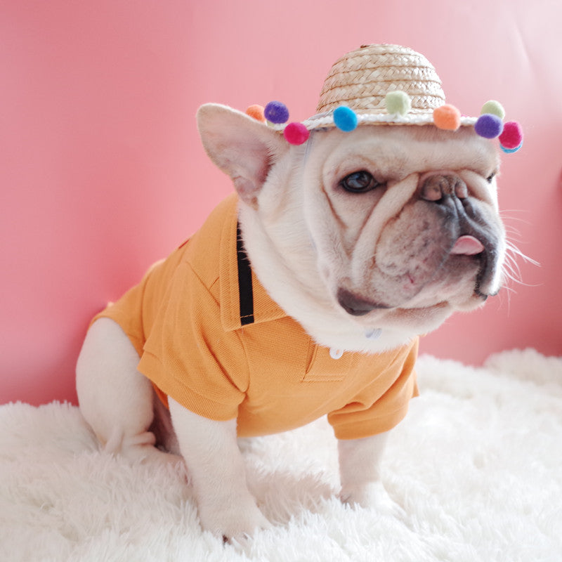
[[[199,126],[240,195],[263,285],[321,343],[327,322],[339,341],[353,329],[407,339],[499,291],[498,157],[472,128],[319,130],[295,147],[220,105],[202,107]]]

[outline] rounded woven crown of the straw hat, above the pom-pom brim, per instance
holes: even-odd
[[[384,113],[391,91],[410,96],[412,113],[432,112],[445,103],[441,80],[424,55],[400,45],[365,45],[336,60],[316,111],[346,105],[358,113]]]

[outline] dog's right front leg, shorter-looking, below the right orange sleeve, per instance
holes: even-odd
[[[380,464],[388,433],[363,439],[339,440],[340,497],[348,504],[372,507],[384,514],[398,514],[381,481]]]

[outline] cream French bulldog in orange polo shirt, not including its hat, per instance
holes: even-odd
[[[197,123],[235,194],[93,321],[81,413],[108,452],[181,455],[218,536],[270,527],[237,436],[324,414],[341,499],[393,509],[380,461],[417,395],[417,337],[502,287],[497,150],[473,126],[321,126],[292,145],[224,105]]]

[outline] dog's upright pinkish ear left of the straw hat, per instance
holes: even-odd
[[[215,103],[200,107],[197,126],[211,160],[232,178],[240,198],[256,207],[270,167],[288,150],[283,136],[245,113]]]

